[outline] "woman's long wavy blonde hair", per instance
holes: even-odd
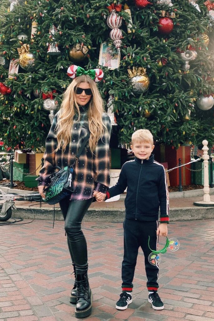
[[[90,76],[81,75],[72,81],[63,95],[63,101],[56,126],[56,138],[58,142],[56,151],[62,148],[62,151],[64,152],[66,146],[70,143],[72,136],[73,117],[76,113],[78,113],[80,120],[80,108],[75,98],[75,88],[78,87],[81,82],[87,82],[92,91],[92,96],[87,111],[90,131],[89,148],[92,153],[95,150],[98,140],[103,136],[104,129],[106,129],[106,126],[102,121],[102,113],[104,112],[103,100],[100,96],[96,83],[90,78]]]

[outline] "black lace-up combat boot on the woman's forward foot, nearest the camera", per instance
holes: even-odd
[[[91,314],[92,293],[88,280],[87,272],[77,274],[77,303],[75,308],[76,318],[85,318]]]

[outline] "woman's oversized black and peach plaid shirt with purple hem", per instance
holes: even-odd
[[[40,177],[38,186],[48,186],[50,183],[50,176],[53,174],[53,167],[72,165],[81,144],[84,141],[88,131],[89,123],[87,112],[81,112],[80,121],[78,115],[74,116],[72,139],[67,145],[66,150],[54,152],[57,146],[56,139],[56,124],[57,116],[54,117],[50,131],[46,139],[46,151],[44,153],[44,166],[40,170]],[[89,149],[89,143],[84,148],[78,161],[76,161],[74,169],[74,188],[75,192],[72,193],[71,199],[87,199],[91,198],[94,190],[106,193],[110,183],[109,175],[109,139],[111,134],[111,121],[106,113],[103,113],[102,120],[107,127],[103,137],[99,139],[98,144],[92,154]]]

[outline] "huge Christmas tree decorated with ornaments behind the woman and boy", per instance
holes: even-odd
[[[213,8],[209,0],[1,0],[4,145],[44,146],[68,67],[99,64],[120,143],[147,128],[172,148],[213,145]]]

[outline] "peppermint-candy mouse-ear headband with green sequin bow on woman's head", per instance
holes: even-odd
[[[103,76],[104,76],[102,69],[97,68],[97,69],[85,70],[84,68],[76,65],[71,65],[70,67],[68,67],[67,74],[72,79],[81,75],[88,75],[95,82],[99,82],[100,80],[103,79]]]

